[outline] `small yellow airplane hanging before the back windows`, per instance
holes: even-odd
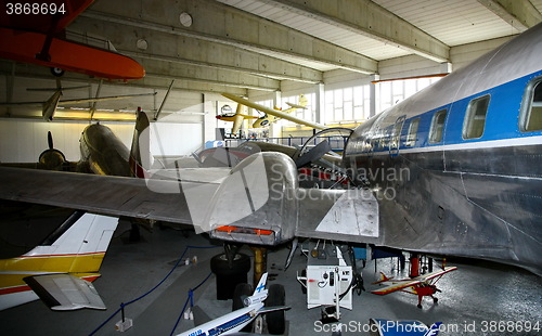
[[[325,129],[326,127],[323,126],[323,125],[320,125],[320,124],[317,124],[317,122],[311,122],[311,121],[307,121],[307,120],[304,120],[304,119],[300,119],[300,118],[297,118],[293,115],[291,115],[292,112],[298,109],[298,108],[307,108],[307,103],[308,103],[308,100],[305,95],[300,95],[299,96],[299,104],[292,104],[292,103],[286,103],[288,104],[291,107],[287,108],[287,109],[284,109],[284,111],[281,111],[280,108],[269,108],[267,106],[263,106],[263,105],[260,105],[260,104],[257,104],[257,103],[254,103],[254,102],[250,102],[249,100],[246,100],[244,98],[241,98],[238,95],[235,95],[235,94],[230,94],[230,93],[222,93],[223,96],[238,103],[240,105],[245,105],[245,106],[248,106],[248,107],[253,107],[253,108],[256,108],[260,112],[263,112],[264,115],[262,117],[259,117],[257,118],[256,121],[254,121],[253,124],[253,128],[261,128],[261,127],[267,127],[269,126],[270,124],[272,122],[276,122],[278,120],[280,119],[286,119],[286,120],[291,120],[291,121],[294,121],[294,122],[297,122],[297,124],[301,124],[301,125],[306,125],[308,127],[312,127],[312,128],[317,128],[317,129]],[[241,116],[244,116],[244,115],[241,115],[240,114],[240,107],[237,105],[237,112],[235,113],[236,116],[238,116],[240,118],[240,121],[238,121],[238,127],[241,127],[241,122],[243,121],[243,119],[241,119]],[[218,119],[221,119],[221,120],[225,120],[223,118],[221,118],[220,116],[217,116]],[[250,117],[251,119],[255,119],[256,117]],[[232,121],[232,120],[225,120],[225,121]],[[232,133],[236,133],[238,132],[238,128],[235,128],[235,124],[233,126],[233,129],[232,129]]]

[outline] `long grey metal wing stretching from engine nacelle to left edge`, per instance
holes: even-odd
[[[179,190],[176,181],[155,181],[153,191],[144,179],[0,167],[0,197],[4,199],[192,223],[184,193],[156,192]]]

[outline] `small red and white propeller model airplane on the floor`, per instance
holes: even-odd
[[[377,290],[372,290],[371,293],[386,295],[397,290],[401,290],[414,294],[417,295],[417,308],[422,308],[422,299],[424,298],[424,296],[430,296],[435,303],[438,301],[438,299],[433,296],[437,292],[440,292],[440,289],[438,289],[435,284],[440,280],[440,277],[442,277],[442,275],[448,272],[455,271],[456,269],[456,267],[446,267],[441,271],[435,271],[433,273],[420,275],[414,279],[401,279],[396,281],[391,281],[393,277],[387,277],[384,273],[380,272],[380,280],[373,284],[386,284],[388,286]]]

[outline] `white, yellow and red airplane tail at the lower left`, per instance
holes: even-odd
[[[117,224],[118,218],[76,211],[42,246],[1,259],[0,310],[38,298],[52,310],[105,309],[91,281]]]

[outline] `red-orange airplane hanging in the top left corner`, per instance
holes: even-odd
[[[44,0],[7,3],[0,11],[0,57],[34,63],[105,79],[140,79],[134,60],[64,39],[65,28],[93,0]]]

